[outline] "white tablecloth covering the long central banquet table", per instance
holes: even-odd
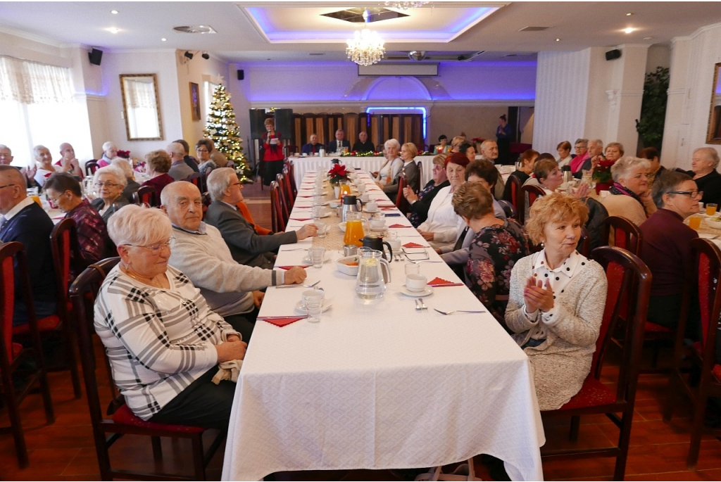
[[[371,196],[389,205],[363,171]],[[288,229],[312,222],[308,196],[316,175],[306,171],[298,184]],[[406,218],[386,220],[404,226],[389,228],[403,244],[428,246]],[[302,264],[306,251],[298,248],[339,249],[338,218],[323,221],[331,226],[326,238],[281,246],[276,267]],[[428,252],[421,273],[459,281]],[[307,268],[306,284],[320,280],[332,301],[319,323],[257,321],[236,386],[223,480],[430,467],[480,453],[505,460],[513,480],[542,480],[545,439],[526,354],[490,314],[431,309],[483,309],[470,290],[435,287],[424,298],[428,311],[417,312],[414,298],[401,292],[404,263],[391,262],[384,298],[364,301],[355,295],[355,277],[335,269],[340,256],[330,251],[321,268]],[[259,317],[297,314],[304,290],[268,288]]]

